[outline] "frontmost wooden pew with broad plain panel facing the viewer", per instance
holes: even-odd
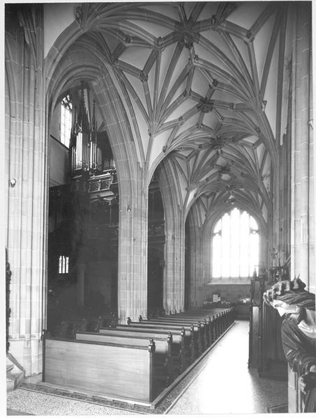
[[[123,346],[45,337],[43,343],[43,382],[140,403],[157,395],[153,341]]]

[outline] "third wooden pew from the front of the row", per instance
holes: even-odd
[[[142,325],[142,323],[130,323],[130,325],[117,325],[117,330],[132,332],[148,332],[167,335],[172,332],[172,366],[174,376],[181,374],[192,362],[192,335],[186,332],[184,327],[164,327],[153,325]],[[102,328],[100,328],[102,332]]]

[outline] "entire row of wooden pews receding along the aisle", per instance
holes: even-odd
[[[126,325],[44,336],[43,382],[151,404],[234,323],[232,308],[202,308]]]

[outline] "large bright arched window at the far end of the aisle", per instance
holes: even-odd
[[[234,208],[213,230],[212,277],[250,277],[258,262],[257,222],[247,212]]]

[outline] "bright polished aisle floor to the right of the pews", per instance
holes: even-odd
[[[236,321],[170,414],[255,414],[287,403],[287,383],[248,369],[248,321]]]

